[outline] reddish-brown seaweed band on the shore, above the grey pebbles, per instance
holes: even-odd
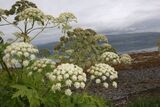
[[[131,69],[145,69],[154,68],[160,66],[160,52],[150,51],[150,52],[132,52],[128,53],[132,59],[133,64],[129,66],[117,65],[114,66],[116,70],[131,70]]]

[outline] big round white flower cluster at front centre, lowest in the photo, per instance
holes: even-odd
[[[54,92],[64,89],[68,96],[72,94],[71,88],[83,89],[86,82],[86,74],[83,69],[68,63],[57,66],[53,72],[47,73],[47,77],[53,82],[52,90]]]

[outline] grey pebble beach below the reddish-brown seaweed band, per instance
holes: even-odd
[[[117,89],[106,90],[92,83],[89,92],[106,99],[113,99],[116,103],[125,103],[131,96],[139,95],[146,91],[150,93],[157,88],[160,89],[160,67],[121,70],[119,71]],[[160,91],[157,93],[160,95]]]

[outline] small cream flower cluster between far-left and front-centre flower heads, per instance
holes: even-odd
[[[56,66],[56,63],[52,61],[51,59],[43,58],[36,60],[28,69],[31,69],[33,71],[42,72],[45,70],[46,67],[50,67],[54,69]]]

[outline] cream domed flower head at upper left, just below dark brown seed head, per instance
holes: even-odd
[[[44,13],[39,10],[38,8],[27,8],[24,11],[22,11],[21,13],[18,14],[18,19],[19,21],[22,20],[36,20],[36,21],[42,21],[42,19],[44,19]]]

